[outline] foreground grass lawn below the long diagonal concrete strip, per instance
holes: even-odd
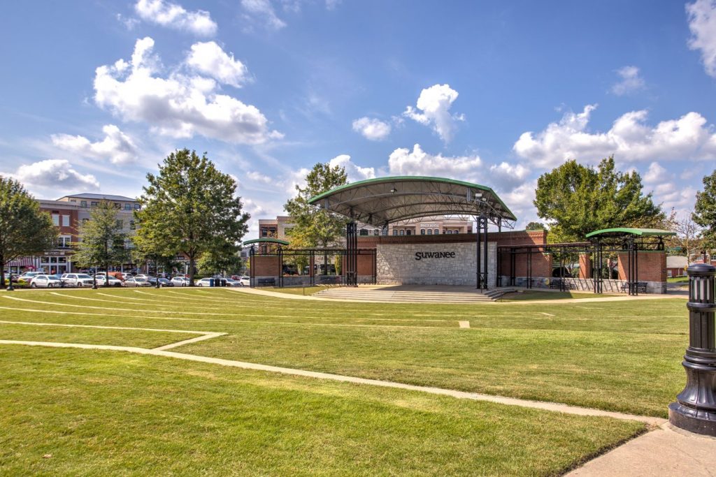
[[[121,352],[0,345],[0,377],[4,475],[555,475],[644,431]]]

